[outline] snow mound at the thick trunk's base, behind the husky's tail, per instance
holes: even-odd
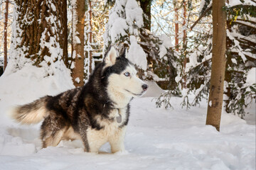
[[[65,68],[55,69],[55,74],[50,76],[45,67],[34,67],[30,63],[15,73],[11,70],[12,64],[8,64],[0,77],[0,125],[9,125],[11,121],[4,113],[9,106],[28,103],[46,94],[56,95],[74,87],[70,72]]]

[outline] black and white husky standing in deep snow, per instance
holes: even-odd
[[[98,152],[106,142],[113,153],[123,152],[129,102],[148,88],[136,74],[125,52],[117,57],[110,47],[85,86],[18,106],[12,116],[22,124],[43,120],[43,148],[82,140],[85,152]]]

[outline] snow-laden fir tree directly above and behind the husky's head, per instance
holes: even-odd
[[[105,26],[104,40],[105,49],[110,45],[115,45],[118,52],[122,52],[124,47],[129,47],[133,43],[134,47],[139,50],[140,55],[138,55],[138,58],[131,60],[133,60],[134,64],[137,64],[137,67],[146,70],[146,54],[137,43],[139,28],[142,28],[144,24],[142,13],[142,8],[139,7],[135,0],[115,1],[113,8],[110,10],[109,21]]]

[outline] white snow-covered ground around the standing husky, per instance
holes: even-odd
[[[110,154],[110,145],[100,154],[85,153],[79,140],[41,149],[40,125],[17,125],[8,110],[73,88],[65,75],[44,77],[42,69],[0,77],[0,169],[255,169],[255,125],[223,114],[218,132],[205,125],[206,101],[186,111],[176,97],[169,110],[156,108],[149,97],[132,101],[126,153]]]

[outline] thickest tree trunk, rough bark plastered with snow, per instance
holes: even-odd
[[[16,47],[14,58],[28,58],[37,67],[41,67],[42,62],[50,65],[57,60],[63,59],[64,46],[67,42],[65,37],[65,18],[63,12],[67,8],[63,1],[41,0],[26,2],[15,0],[16,18],[16,40],[13,42]],[[23,63],[18,62],[18,68],[23,67]],[[53,74],[53,72],[49,72]]]

